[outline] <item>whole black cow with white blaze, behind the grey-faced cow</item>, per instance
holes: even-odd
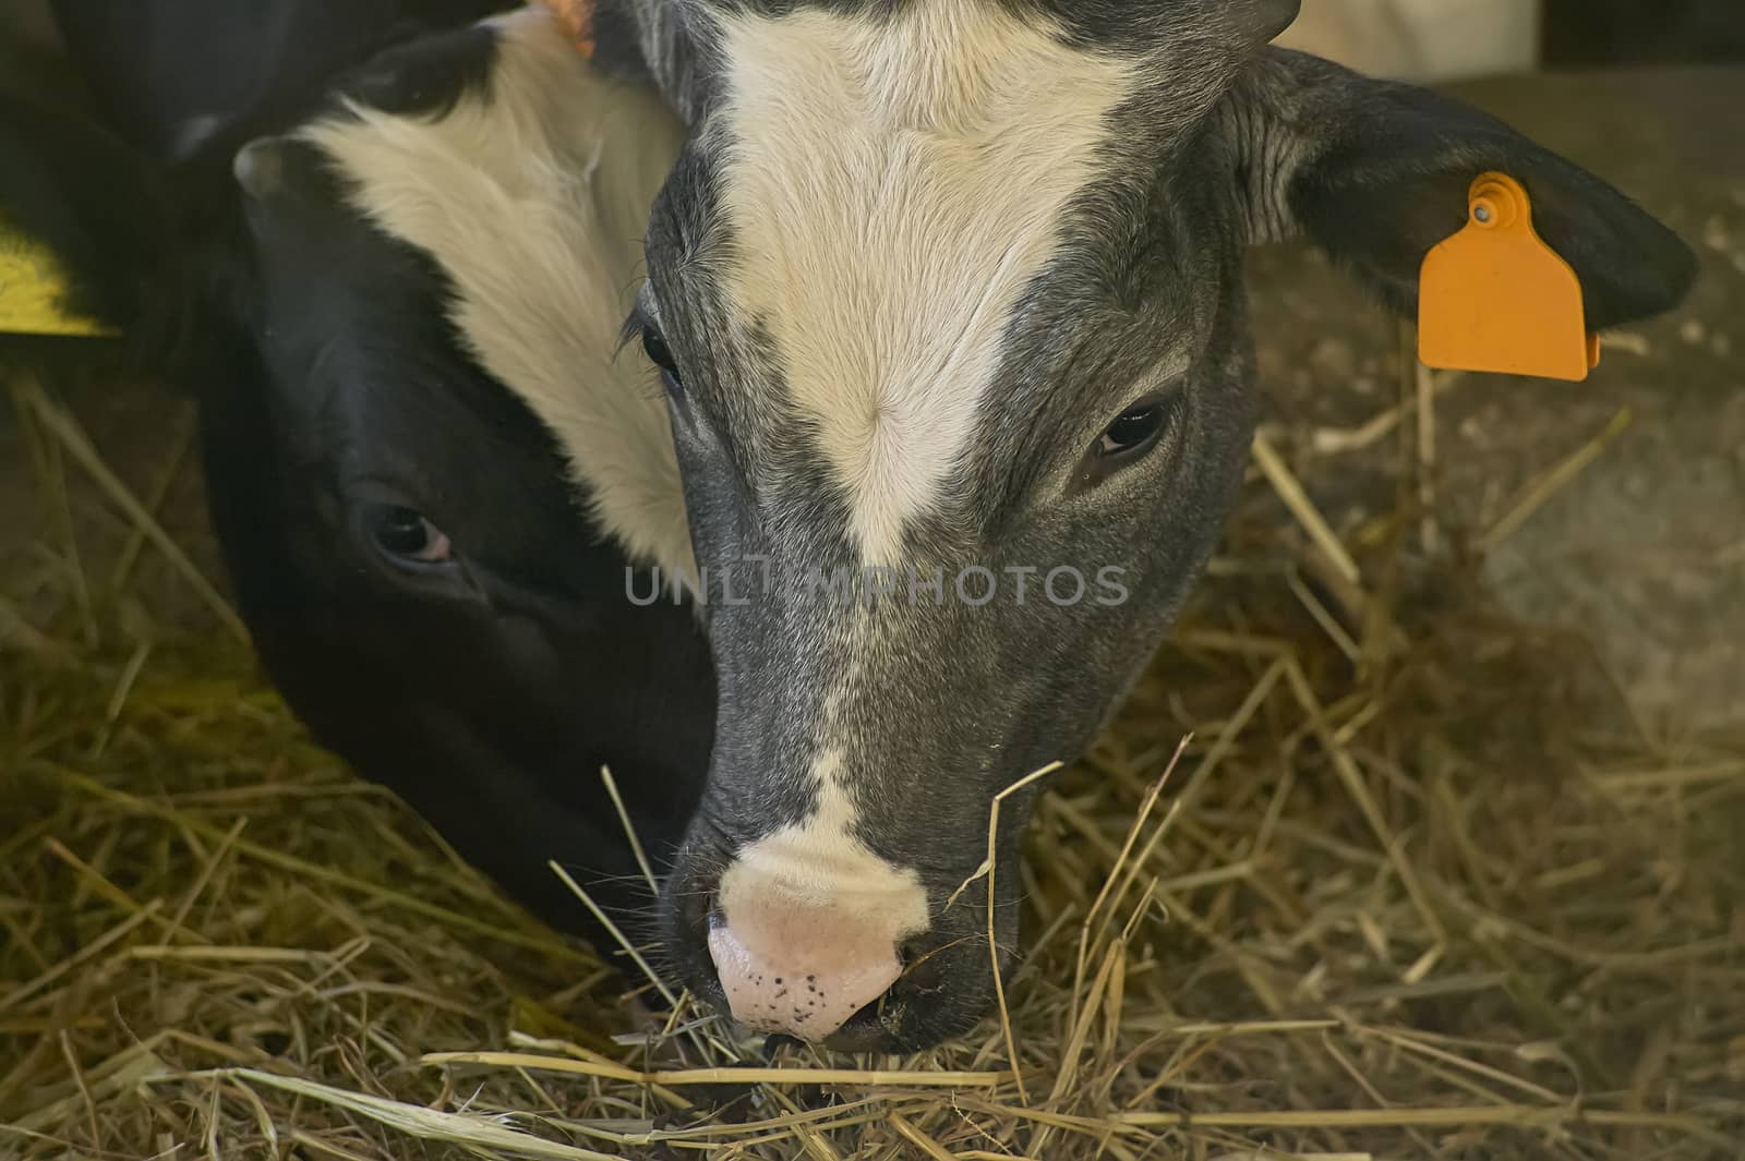
[[[0,221],[126,331],[96,359],[197,399],[239,612],[314,737],[553,924],[607,938],[555,859],[640,940],[600,771],[663,866],[715,708],[691,608],[623,596],[688,551],[658,378],[619,356],[682,127],[548,17],[455,7],[77,0],[96,94],[0,84]],[[354,153],[440,166],[405,207],[448,199],[489,268],[384,228]]]

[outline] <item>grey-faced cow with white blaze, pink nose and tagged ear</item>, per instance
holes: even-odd
[[[663,950],[742,1025],[914,1051],[991,1004],[1019,877],[988,900],[989,804],[1110,716],[1242,478],[1244,248],[1307,237],[1410,312],[1502,171],[1593,328],[1691,284],[1670,230],[1508,126],[1270,47],[1295,14],[602,2],[689,124],[632,322],[691,526],[660,563],[724,589]]]

